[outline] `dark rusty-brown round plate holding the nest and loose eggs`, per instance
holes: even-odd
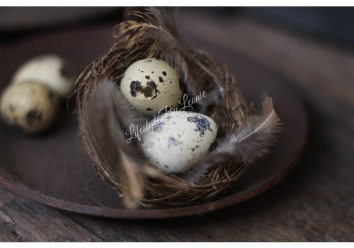
[[[113,43],[113,25],[51,33],[31,38],[0,52],[0,90],[16,68],[35,55],[54,52],[80,72]],[[189,37],[192,44],[227,64],[246,101],[260,101],[264,91],[273,98],[283,123],[280,140],[270,154],[251,164],[227,195],[211,203],[185,208],[125,210],[121,198],[93,171],[79,137],[79,123],[67,111],[46,135],[26,136],[0,122],[0,185],[55,208],[110,218],[169,218],[206,213],[257,196],[290,173],[299,160],[307,135],[307,117],[294,92],[265,69],[217,45]],[[70,102],[70,101],[69,101]],[[69,104],[70,106],[70,104]]]

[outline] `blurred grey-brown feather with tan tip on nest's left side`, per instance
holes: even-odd
[[[100,152],[104,164],[113,168],[115,176],[123,174],[123,180],[127,181],[125,206],[137,208],[144,193],[145,179],[140,173],[144,157],[136,145],[127,144],[123,127],[139,125],[144,117],[128,107],[124,98],[118,98],[119,94],[118,86],[104,79],[86,99],[83,115],[91,145]]]

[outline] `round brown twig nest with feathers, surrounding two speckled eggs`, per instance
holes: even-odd
[[[221,197],[273,143],[279,119],[271,98],[265,96],[259,108],[249,108],[234,77],[206,52],[186,45],[176,20],[164,10],[133,15],[139,20],[115,26],[113,46],[76,81],[76,113],[94,169],[127,208],[177,208]],[[148,119],[122,97],[120,79],[132,62],[144,58],[174,67],[188,98],[207,92],[193,108],[215,120],[217,139],[202,161],[183,174],[161,173],[147,162],[139,140],[126,142],[126,130]]]

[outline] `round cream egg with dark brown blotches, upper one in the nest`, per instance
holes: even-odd
[[[151,117],[166,108],[176,108],[182,88],[176,69],[156,59],[134,62],[120,81],[120,91],[127,101],[137,111]]]

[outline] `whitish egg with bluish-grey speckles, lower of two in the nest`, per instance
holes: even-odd
[[[151,120],[141,146],[149,163],[165,174],[188,171],[207,154],[217,136],[212,118],[171,111]]]

